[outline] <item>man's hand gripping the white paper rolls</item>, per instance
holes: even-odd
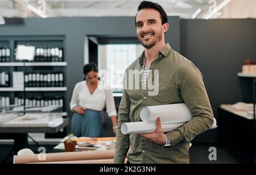
[[[153,142],[155,144],[160,144],[162,146],[166,144],[166,136],[163,133],[160,117],[156,119],[156,130],[154,132],[148,133],[148,134],[138,134],[138,135],[143,136],[144,139],[150,142]]]

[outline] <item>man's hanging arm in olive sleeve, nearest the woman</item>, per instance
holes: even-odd
[[[129,135],[124,135],[121,132],[121,125],[124,122],[130,122],[129,113],[130,113],[131,101],[126,90],[123,89],[123,95],[121,103],[118,109],[118,122],[117,122],[117,142],[115,143],[115,155],[114,163],[123,164],[125,161],[126,154],[130,147]]]

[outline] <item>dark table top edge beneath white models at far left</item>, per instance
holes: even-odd
[[[69,119],[63,118],[63,123],[52,127],[0,127],[0,133],[57,133],[68,124]]]

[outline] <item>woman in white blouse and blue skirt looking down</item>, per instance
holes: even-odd
[[[84,66],[85,80],[76,84],[70,103],[74,112],[71,133],[76,136],[101,137],[101,111],[106,104],[106,112],[111,117],[113,132],[117,133],[117,111],[110,89],[98,88],[98,69],[94,63]]]

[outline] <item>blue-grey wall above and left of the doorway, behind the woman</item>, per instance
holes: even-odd
[[[179,17],[170,17],[166,41],[172,48],[180,51]],[[16,23],[18,22],[18,24]],[[86,36],[108,38],[126,38],[136,36],[134,17],[88,17],[88,18],[26,18],[7,19],[6,25],[0,25],[0,36],[65,36],[64,57],[67,60],[67,109],[73,87],[84,79],[84,45]],[[72,112],[68,110],[68,116]]]

